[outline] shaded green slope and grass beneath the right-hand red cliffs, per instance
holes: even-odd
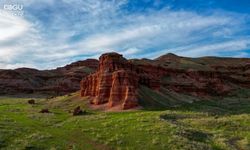
[[[218,116],[250,114],[250,89],[247,88],[238,88],[227,96],[201,98],[175,93],[163,87],[153,91],[142,86],[139,95],[139,104],[149,111],[193,111]]]

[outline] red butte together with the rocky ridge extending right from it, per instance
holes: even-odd
[[[168,99],[166,91],[200,99],[230,96],[250,88],[250,59],[186,58],[174,54],[155,60],[127,60],[117,53],[103,54],[99,67],[81,81],[81,96],[94,105],[108,104],[121,109],[134,108],[143,100],[138,94],[146,86]]]

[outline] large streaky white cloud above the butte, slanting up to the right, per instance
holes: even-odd
[[[156,45],[159,42],[171,44],[188,42],[194,38],[203,38],[204,35],[197,36],[193,32],[200,32],[200,30],[204,29],[210,31],[211,27],[232,24],[232,18],[227,16],[200,16],[196,13],[183,11],[164,11],[162,13],[152,13],[149,16],[141,14],[127,16],[123,18],[124,22],[129,22],[131,17],[138,21],[116,31],[90,35],[82,41],[82,45],[86,49],[93,50],[122,48],[124,45],[128,45],[126,48],[138,45],[144,45],[140,47],[147,48],[149,45],[154,45],[152,42],[155,42]],[[209,32],[207,34],[206,36],[211,35]]]

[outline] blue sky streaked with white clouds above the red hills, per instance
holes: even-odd
[[[249,0],[0,0],[0,68],[127,58],[250,57]]]

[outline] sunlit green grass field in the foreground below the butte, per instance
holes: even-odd
[[[50,100],[0,98],[3,150],[248,150],[250,100],[224,99],[165,110],[89,110],[76,94]],[[86,115],[69,113],[81,105]],[[42,114],[42,108],[51,113]]]

